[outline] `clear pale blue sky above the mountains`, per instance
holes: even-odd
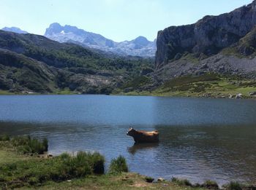
[[[75,25],[114,41],[145,36],[170,25],[195,23],[252,0],[0,0],[0,28],[15,26],[43,35],[50,23]]]

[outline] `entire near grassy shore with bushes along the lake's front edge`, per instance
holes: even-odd
[[[112,159],[105,171],[105,159],[98,153],[78,152],[51,157],[42,153],[48,148],[45,140],[30,137],[0,136],[1,189],[219,189],[214,181],[192,184],[186,179],[171,181],[130,173],[124,157]],[[26,149],[25,149],[26,148]],[[25,151],[24,151],[25,150]],[[230,182],[222,189],[255,189],[238,182]]]

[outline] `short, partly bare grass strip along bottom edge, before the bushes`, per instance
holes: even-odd
[[[24,188],[26,189],[26,188]],[[204,188],[192,188],[178,186],[176,183],[169,181],[148,183],[145,181],[145,176],[137,173],[121,173],[119,175],[90,175],[87,178],[75,179],[72,181],[64,181],[56,183],[50,181],[44,186],[37,189],[173,189],[173,190],[203,190]]]

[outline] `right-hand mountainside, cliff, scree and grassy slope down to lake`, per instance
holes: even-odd
[[[253,1],[233,12],[159,31],[154,74],[139,85],[134,81],[124,94],[253,98],[255,55]]]

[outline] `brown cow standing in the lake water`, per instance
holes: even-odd
[[[127,135],[133,137],[135,143],[157,143],[159,142],[159,132],[157,130],[147,132],[129,128]]]

